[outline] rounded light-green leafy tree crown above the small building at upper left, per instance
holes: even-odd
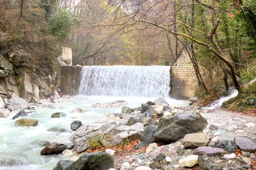
[[[71,12],[66,9],[59,9],[58,12],[49,19],[51,34],[58,36],[61,41],[73,31],[74,25],[75,19]]]

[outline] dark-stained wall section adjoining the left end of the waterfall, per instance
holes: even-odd
[[[61,66],[58,84],[61,91],[78,95],[81,81],[81,66]]]

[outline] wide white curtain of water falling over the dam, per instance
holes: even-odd
[[[79,95],[169,97],[170,66],[84,66]]]

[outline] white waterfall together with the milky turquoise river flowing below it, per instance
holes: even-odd
[[[117,100],[127,101],[128,107],[140,107],[141,103],[165,97],[173,106],[188,106],[188,101],[169,98],[169,67],[165,66],[85,66],[81,81],[81,95],[71,102],[56,103],[58,109],[49,109],[34,105],[35,110],[26,117],[39,121],[37,127],[17,127],[12,120],[0,118],[0,170],[52,170],[59,160],[69,160],[71,156],[62,154],[41,156],[44,148],[38,141],[70,144],[70,124],[80,120],[83,124],[96,122],[99,118],[108,118],[111,113],[120,113],[122,107],[94,109],[92,104],[104,104]],[[86,74],[87,72],[87,74]],[[91,78],[91,79],[89,79]],[[135,96],[135,97],[134,97]],[[71,113],[72,109],[81,108],[87,112]],[[27,112],[32,110],[26,110]],[[63,112],[64,118],[50,118],[52,113]],[[73,119],[72,116],[79,116]],[[68,133],[48,132],[47,129],[60,127]]]

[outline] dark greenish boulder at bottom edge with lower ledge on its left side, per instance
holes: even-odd
[[[59,161],[53,170],[109,170],[114,159],[108,153],[85,153],[77,161]]]

